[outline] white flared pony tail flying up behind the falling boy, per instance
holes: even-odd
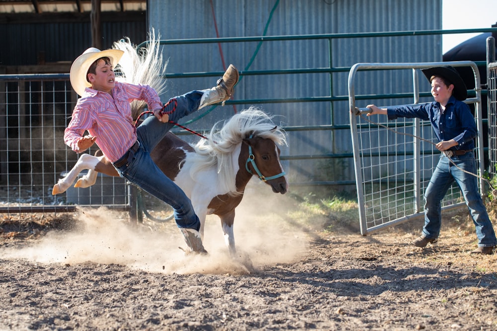
[[[166,91],[167,61],[163,63],[159,40],[160,35],[156,38],[152,28],[145,47],[137,48],[127,37],[113,43],[113,49],[124,52],[116,68],[117,71],[120,71],[117,79],[131,84],[150,85],[159,95],[164,93]],[[136,120],[145,105],[144,101],[131,103],[133,120]]]

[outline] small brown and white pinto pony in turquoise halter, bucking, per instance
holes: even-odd
[[[288,182],[278,147],[286,144],[286,137],[285,132],[275,126],[271,116],[253,107],[235,114],[219,130],[216,127],[207,139],[200,139],[196,145],[189,145],[169,132],[151,156],[166,176],[191,199],[201,222],[202,236],[206,215],[215,214],[221,218],[225,243],[235,256],[235,208],[242,201],[252,176],[262,174],[273,192],[287,192]],[[93,185],[96,172],[118,176],[104,156],[83,154],[66,177],[54,186],[52,193],[65,192],[85,169],[89,169],[87,175],[80,178],[75,187]]]

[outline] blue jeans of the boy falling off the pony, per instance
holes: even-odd
[[[198,110],[202,94],[199,91],[191,91],[173,98],[177,101],[177,107],[172,114],[169,114],[169,120],[177,122]],[[172,110],[173,106],[174,103],[171,102],[164,111]],[[159,122],[155,116],[143,121],[136,130],[140,147],[135,154],[130,153],[128,164],[117,168],[117,172],[121,177],[169,204],[174,209],[174,219],[178,227],[198,231],[200,220],[193,210],[190,199],[167,178],[150,157],[150,152],[173,126],[172,123]]]

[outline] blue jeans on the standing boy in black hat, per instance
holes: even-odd
[[[476,174],[476,160],[473,153],[452,156],[452,161],[457,167]],[[438,238],[442,223],[441,201],[455,181],[461,189],[466,205],[473,218],[478,246],[496,246],[497,240],[494,228],[487,209],[483,204],[482,197],[478,192],[477,177],[467,174],[457,167],[442,153],[424,193],[423,234],[428,239]]]

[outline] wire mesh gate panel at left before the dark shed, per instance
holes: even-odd
[[[91,188],[52,195],[53,185],[79,156],[63,141],[76,98],[69,74],[1,76],[1,212],[62,212],[92,204],[129,209],[125,181],[102,174]]]

